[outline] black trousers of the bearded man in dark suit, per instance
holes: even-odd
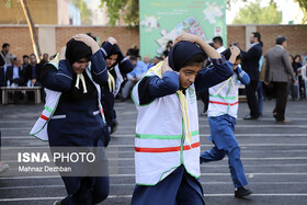
[[[250,115],[254,118],[259,117],[258,100],[255,96],[258,81],[259,80],[251,79],[250,83],[246,87],[247,100],[248,100],[248,105],[250,109]]]

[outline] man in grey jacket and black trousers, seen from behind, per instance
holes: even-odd
[[[285,49],[287,39],[284,36],[277,36],[276,45],[266,52],[265,59],[265,84],[273,83],[276,92],[276,105],[273,116],[276,122],[288,123],[285,119],[285,110],[287,103],[287,86],[288,82],[297,83],[295,75],[288,59],[288,52]]]

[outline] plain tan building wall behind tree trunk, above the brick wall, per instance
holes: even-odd
[[[26,1],[35,24],[58,24],[58,0]],[[26,24],[19,0],[12,0],[12,8],[5,8],[7,0],[0,0],[0,24]]]

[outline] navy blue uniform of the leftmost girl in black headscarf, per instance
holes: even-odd
[[[107,80],[107,71],[102,52],[99,50],[90,57],[91,76],[94,82],[102,84]],[[68,60],[60,60],[58,70],[50,64],[45,65],[42,83],[45,88],[61,92],[53,118],[48,122],[48,138],[52,147],[82,147],[95,153],[94,147],[104,144],[105,125],[99,110],[99,92],[87,71],[83,73],[87,93],[75,87],[77,75],[72,72]],[[100,152],[101,153],[101,152]],[[107,169],[104,155],[99,157],[98,168]],[[87,171],[88,167],[80,167]],[[90,174],[90,173],[89,173]],[[62,205],[94,204],[103,201],[109,195],[109,176],[62,176],[68,196],[61,201]]]

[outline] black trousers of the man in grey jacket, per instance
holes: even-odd
[[[285,111],[287,104],[287,84],[288,82],[273,82],[273,89],[276,92],[276,105],[273,115],[276,121],[285,119]]]

